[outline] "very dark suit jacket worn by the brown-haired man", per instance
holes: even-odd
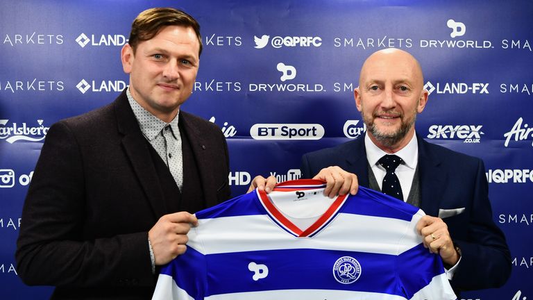
[[[230,196],[220,129],[180,112],[207,206]],[[53,124],[28,189],[17,240],[19,276],[56,285],[53,299],[151,299],[148,231],[165,214],[158,174],[126,92]],[[194,212],[191,212],[194,213]]]

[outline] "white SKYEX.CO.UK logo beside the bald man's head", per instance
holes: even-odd
[[[466,143],[479,143],[482,125],[433,125],[430,127],[428,138],[439,140],[464,140]]]

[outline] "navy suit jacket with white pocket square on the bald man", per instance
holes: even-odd
[[[418,139],[421,209],[443,217],[452,240],[462,251],[451,281],[454,290],[478,290],[503,285],[511,273],[511,255],[505,237],[494,224],[489,186],[482,160]],[[337,165],[357,175],[369,187],[364,137],[302,157],[302,178]],[[464,208],[464,210],[461,210]]]

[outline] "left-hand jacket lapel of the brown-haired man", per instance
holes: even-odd
[[[167,207],[164,204],[160,181],[150,158],[148,143],[128,102],[126,90],[117,97],[113,106],[117,117],[117,130],[122,135],[122,147],[133,166],[133,172],[139,178],[155,217],[161,217],[167,213]]]

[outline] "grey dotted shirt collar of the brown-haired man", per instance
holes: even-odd
[[[142,134],[146,139],[148,139],[150,142],[153,141],[167,125],[170,125],[170,128],[172,129],[172,135],[174,135],[174,138],[176,138],[176,133],[180,130],[178,127],[178,119],[180,115],[179,112],[178,115],[176,115],[176,117],[167,124],[158,117],[155,117],[155,115],[144,109],[137,101],[135,101],[130,93],[129,87],[128,90],[126,90],[126,96],[128,97],[128,102],[133,110],[135,119],[137,119],[137,123],[139,123]]]

